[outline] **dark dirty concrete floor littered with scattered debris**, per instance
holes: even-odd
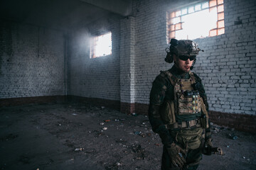
[[[225,155],[203,157],[198,169],[256,169],[256,135],[213,130]],[[161,169],[161,149],[145,115],[88,103],[0,108],[1,170]]]

